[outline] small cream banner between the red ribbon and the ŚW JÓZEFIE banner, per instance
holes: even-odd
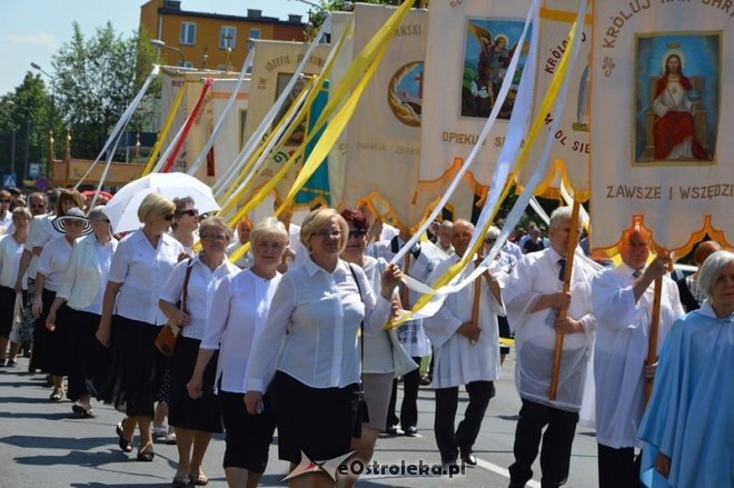
[[[221,118],[236,86],[237,80],[215,80],[211,87],[211,110],[215,123]],[[206,173],[215,180],[226,175],[247,142],[245,140],[245,121],[247,120],[249,90],[250,81],[245,79],[215,146],[207,155]]]

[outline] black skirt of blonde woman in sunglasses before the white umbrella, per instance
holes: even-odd
[[[101,400],[128,417],[153,417],[156,384],[167,359],[155,346],[159,330],[152,323],[112,317],[116,338]]]

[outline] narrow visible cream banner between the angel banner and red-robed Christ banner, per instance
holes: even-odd
[[[538,69],[535,78],[534,106],[537,110],[548,91],[553,73],[561,57],[569,49],[568,32],[576,20],[578,2],[586,0],[545,0],[539,12]],[[586,201],[589,197],[588,160],[592,151],[592,23],[591,13],[586,16],[582,31],[577,62],[569,67],[568,92],[566,103],[558,113],[545,114],[545,125],[561,118],[558,129],[553,135],[550,148],[550,171],[538,185],[536,195],[558,198],[562,181],[566,188],[573,188],[574,197]],[[530,148],[528,160],[523,171],[517,175],[516,183],[522,189],[535,172],[542,157],[543,145]]]

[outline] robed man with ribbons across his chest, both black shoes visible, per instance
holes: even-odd
[[[466,252],[474,226],[466,220],[454,222],[452,246],[455,253],[446,258],[428,279],[435,281],[446,270],[459,261]],[[474,271],[469,263],[460,273],[459,280]],[[502,273],[499,263],[493,265],[477,280],[460,291],[446,297],[438,312],[424,319],[424,327],[434,345],[435,365],[433,388],[436,389],[436,417],[434,432],[443,464],[456,462],[460,456],[464,464],[476,466],[472,454],[482,420],[495,395],[494,382],[499,378],[499,330],[497,315],[504,315],[499,283],[495,273]],[[480,280],[480,281],[479,281]],[[477,283],[477,281],[479,281]],[[479,292],[479,309],[476,323],[473,322],[475,287]],[[458,387],[464,385],[469,394],[469,402],[464,419],[454,430],[458,407]]]

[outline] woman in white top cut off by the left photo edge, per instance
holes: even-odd
[[[0,237],[0,366],[16,366],[16,357],[20,343],[10,345],[10,353],[6,363],[6,348],[12,330],[13,316],[16,312],[16,277],[20,265],[20,257],[26,247],[28,228],[31,215],[26,208],[17,208],[12,211],[12,225],[14,231]]]

